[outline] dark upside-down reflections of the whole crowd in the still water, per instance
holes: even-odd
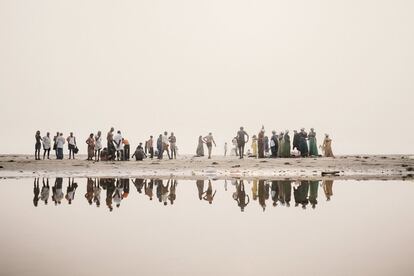
[[[55,179],[52,187],[50,187],[48,178],[42,179],[42,187],[40,187],[39,181],[39,178],[34,179],[33,204],[35,207],[38,206],[39,201],[43,201],[47,205],[49,198],[52,199],[55,205],[60,205],[64,200],[68,204],[72,204],[74,201],[78,184],[73,178],[68,178],[67,180],[66,193],[63,189],[63,178],[61,177]],[[86,193],[84,196],[89,205],[99,207],[101,205],[101,193],[104,190],[106,192],[106,206],[109,211],[113,211],[114,205],[119,208],[122,201],[128,198],[130,182],[133,183],[139,194],[144,194],[149,200],[153,200],[155,189],[155,196],[165,206],[168,203],[173,205],[177,198],[178,183],[176,179],[142,178],[87,178]],[[323,180],[322,183],[319,180],[253,180],[252,183],[250,181],[248,182],[248,185],[251,185],[251,197],[246,192],[244,180],[233,179],[230,182],[234,186],[232,198],[236,201],[237,206],[242,212],[249,205],[250,199],[252,201],[258,201],[263,211],[266,210],[268,200],[271,200],[271,204],[274,207],[278,205],[290,207],[292,190],[295,207],[301,206],[303,209],[306,209],[308,205],[316,208],[320,186],[323,188],[326,200],[329,201],[333,195],[333,180]],[[212,204],[217,192],[213,188],[212,181],[196,180],[196,186],[198,198]],[[224,181],[224,189],[225,191],[228,190],[227,180]],[[50,192],[52,192],[51,197]]]

